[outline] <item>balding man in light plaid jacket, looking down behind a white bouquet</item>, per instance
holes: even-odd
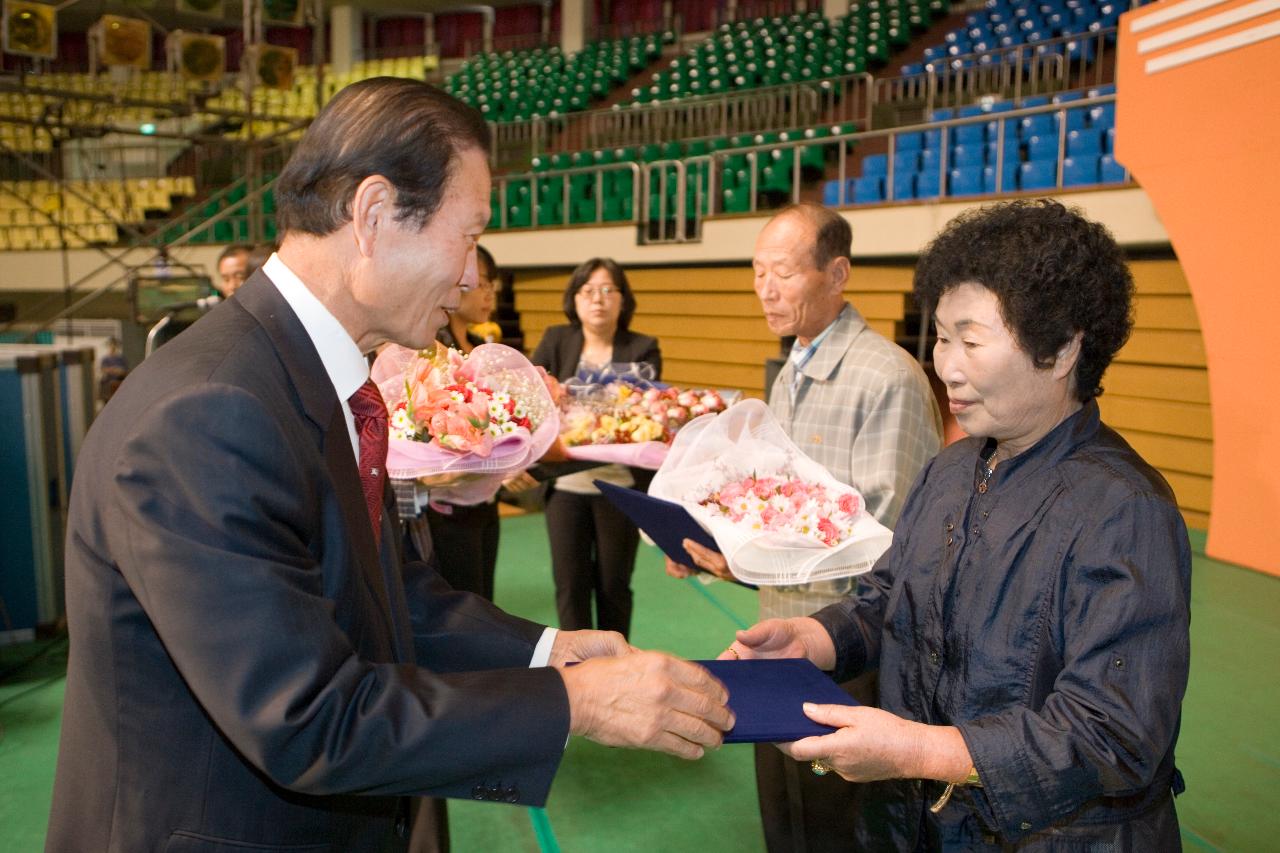
[[[878,334],[845,301],[852,232],[827,207],[803,204],[768,222],[755,243],[755,293],[769,330],[796,341],[769,391],[769,410],[791,439],[888,528],[906,493],[937,453],[942,419],[920,365]],[[696,564],[731,576],[724,558],[685,540]],[[668,573],[689,570],[667,561]],[[842,601],[856,579],[760,588],[760,617],[809,613]],[[876,703],[874,674],[846,683]],[[756,793],[768,849],[847,849],[859,821],[876,822],[856,785],[836,775],[800,772],[769,744],[755,751]]]

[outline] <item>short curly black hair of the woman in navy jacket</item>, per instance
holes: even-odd
[[[1133,275],[1111,233],[1075,207],[1023,199],[966,210],[920,255],[915,298],[937,307],[960,284],[986,287],[1041,369],[1083,332],[1075,365],[1082,401],[1102,393],[1111,359],[1133,329]]]

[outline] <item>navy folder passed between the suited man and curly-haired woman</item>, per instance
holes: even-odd
[[[694,661],[728,689],[737,717],[724,743],[790,743],[835,731],[805,716],[805,702],[858,704],[831,676],[804,660]]]

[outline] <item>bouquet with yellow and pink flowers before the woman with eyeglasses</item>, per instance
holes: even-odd
[[[570,459],[637,467],[657,469],[681,426],[726,407],[718,391],[662,387],[634,373],[577,377],[566,389],[561,439]]]

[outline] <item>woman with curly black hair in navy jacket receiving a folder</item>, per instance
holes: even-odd
[[[1057,202],[1001,204],[946,227],[915,293],[969,438],[855,597],[726,656],[879,670],[879,708],[805,706],[837,730],[783,747],[877,783],[849,847],[1179,849],[1190,552],[1169,484],[1098,419],[1132,327],[1121,252]]]

